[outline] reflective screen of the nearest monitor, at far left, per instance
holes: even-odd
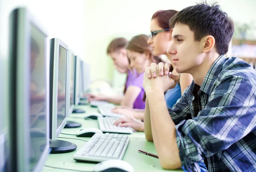
[[[46,144],[46,37],[35,27],[31,27],[30,39],[30,169],[40,160],[40,146]],[[38,132],[35,132],[38,130]],[[39,131],[41,130],[41,132]]]

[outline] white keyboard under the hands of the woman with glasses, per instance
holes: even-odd
[[[103,133],[122,133],[132,134],[133,130],[130,127],[119,127],[113,125],[118,118],[114,117],[98,117],[99,129]]]

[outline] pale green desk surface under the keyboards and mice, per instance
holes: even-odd
[[[76,107],[79,107],[79,109],[82,109],[82,110],[86,110],[87,113],[92,113],[97,111],[97,108],[93,108],[90,106],[75,106],[75,108]],[[68,118],[68,120],[79,122],[82,124],[82,126],[79,128],[67,128],[67,129],[64,128],[61,133],[76,134],[76,131],[84,128],[89,128],[89,127],[99,128],[97,120],[82,119],[82,117],[85,114],[86,113],[72,114],[70,118]],[[154,147],[154,143],[148,142],[145,140],[144,132],[134,132],[133,134],[128,136],[130,137],[130,141],[122,160],[131,164],[135,172],[149,172],[149,171],[151,172],[160,172],[160,171],[182,172],[183,171],[182,169],[165,170],[160,166],[159,159],[139,153],[138,150],[141,149],[153,154],[157,154],[156,149]],[[68,139],[68,138],[75,138],[75,139],[81,139],[81,140]],[[90,138],[81,138],[81,137],[76,137],[75,135],[60,134],[58,139],[64,140],[64,141],[71,141],[72,143],[77,145],[76,151],[78,151],[86,143],[85,141],[88,141]],[[61,171],[68,172],[68,170],[53,169],[47,166],[70,169],[70,172],[72,172],[73,170],[93,171],[93,167],[96,165],[96,163],[75,161],[73,159],[73,155],[76,153],[76,151],[63,153],[63,154],[50,154],[47,159],[47,162],[45,163],[46,166],[44,166],[44,169],[42,170],[42,172],[61,172]]]

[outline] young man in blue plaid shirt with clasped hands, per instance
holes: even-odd
[[[168,74],[168,63],[145,69],[145,138],[154,141],[161,166],[200,171],[197,162],[204,160],[210,172],[253,171],[256,71],[225,56],[233,21],[217,4],[200,3],[179,11],[170,28],[173,42],[167,52],[177,72],[190,73],[193,82],[168,109],[164,92],[179,76]]]

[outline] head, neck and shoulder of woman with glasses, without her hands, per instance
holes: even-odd
[[[172,43],[172,32],[169,28],[169,20],[177,13],[176,10],[157,11],[150,24],[150,38],[148,44],[152,48],[154,55],[159,56],[165,54],[172,64],[172,73],[178,75],[173,65],[172,55],[167,54],[166,50]],[[167,107],[172,107],[181,97],[186,87],[192,82],[192,76],[188,73],[180,74],[180,81],[174,89],[168,90],[165,94]]]

